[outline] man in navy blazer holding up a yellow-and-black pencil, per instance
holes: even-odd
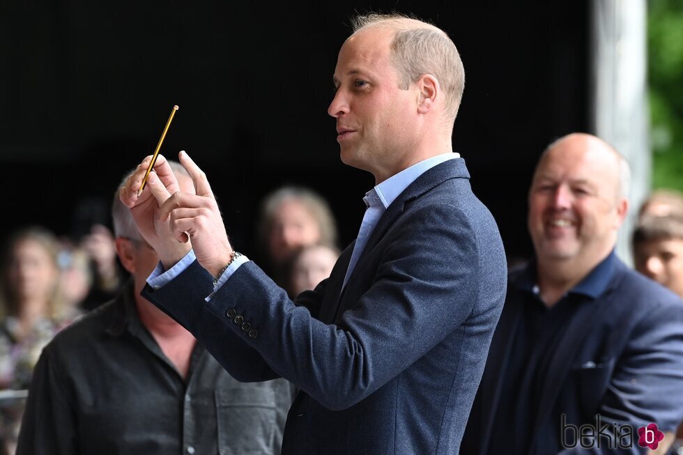
[[[284,454],[457,454],[505,298],[498,226],[453,153],[461,86],[436,63],[406,84],[394,44],[436,29],[387,19],[339,51],[328,114],[342,162],[372,173],[375,186],[358,238],[313,291],[290,300],[233,249],[208,178],[186,153],[196,195],[178,192],[161,156],[140,196],[142,171],[121,192],[160,256],[144,295],[233,376],[300,387]]]

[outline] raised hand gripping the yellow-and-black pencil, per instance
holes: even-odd
[[[181,189],[163,155],[158,155],[144,191],[139,196],[137,194],[151,159],[150,155],[138,165],[121,187],[119,197],[130,208],[141,236],[155,249],[160,261],[168,269],[183,259],[191,246],[189,243],[178,242],[169,229],[169,223],[159,218],[160,205]]]

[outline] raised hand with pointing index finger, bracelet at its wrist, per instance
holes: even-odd
[[[230,261],[233,249],[206,173],[184,151],[178,158],[190,173],[197,194],[174,192],[159,208],[157,219],[168,219],[171,235],[178,242],[187,242],[189,236],[197,261],[215,277]],[[152,191],[156,196],[157,188]]]

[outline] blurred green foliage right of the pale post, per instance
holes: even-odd
[[[649,0],[653,186],[683,191],[683,0]]]

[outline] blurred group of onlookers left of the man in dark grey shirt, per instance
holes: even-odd
[[[0,280],[0,387],[6,393],[0,431],[5,445],[13,447],[43,347],[85,311],[116,295],[123,273],[105,226],[91,226],[79,242],[27,226],[5,239]]]

